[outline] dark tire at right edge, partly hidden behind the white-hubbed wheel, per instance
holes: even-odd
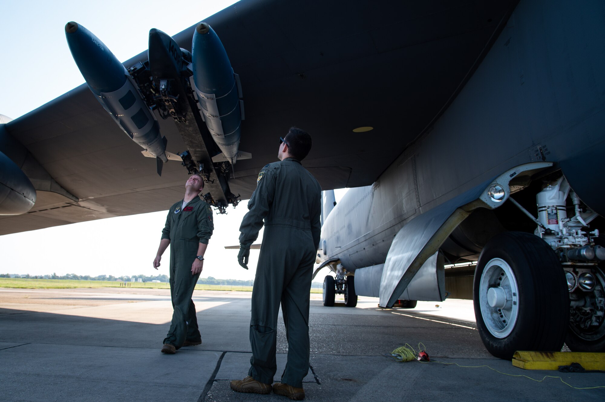
[[[603,294],[603,289],[605,289],[605,273],[601,269],[597,269],[596,279],[597,279],[597,287],[600,286],[600,290],[598,292]],[[593,292],[587,293],[586,298],[590,298],[591,304],[595,303],[595,290]],[[573,313],[573,308],[571,308]],[[567,331],[567,337],[565,338],[565,344],[569,349],[574,352],[593,352],[593,353],[603,353],[605,352],[605,319],[601,317],[600,319],[601,325],[597,328],[590,328],[590,331],[585,331],[578,329],[575,325],[570,322],[569,323],[569,331]]]

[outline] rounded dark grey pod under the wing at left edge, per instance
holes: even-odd
[[[0,152],[0,215],[19,215],[36,203],[36,190],[25,173]]]

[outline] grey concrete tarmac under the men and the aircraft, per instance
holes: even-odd
[[[0,289],[0,400],[286,401],[229,388],[249,368],[250,296],[196,291],[203,343],[166,355],[168,290]],[[378,308],[375,298],[360,298],[356,308],[311,298],[306,400],[605,400],[605,388],[562,382],[605,386],[604,374],[527,371],[492,357],[471,301],[419,302],[410,310]],[[384,356],[419,342],[431,363]],[[277,347],[275,381],[287,354],[281,316]],[[555,378],[535,381],[547,375]]]

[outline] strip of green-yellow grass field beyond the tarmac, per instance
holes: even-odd
[[[0,287],[16,289],[72,289],[99,287],[130,287],[145,289],[170,289],[166,282],[117,282],[117,281],[72,281],[70,279],[29,279],[29,278],[0,278]],[[206,285],[197,284],[195,290],[239,290],[252,292],[252,286]],[[311,293],[321,293],[321,288],[312,288]]]

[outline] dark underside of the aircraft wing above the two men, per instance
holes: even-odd
[[[240,149],[252,158],[235,164],[232,193],[250,197],[290,126],[312,135],[303,164],[324,190],[373,183],[457,94],[516,4],[484,3],[242,0],[205,19],[246,106]],[[181,48],[194,29],[174,36]],[[187,150],[178,123],[158,120],[167,149]],[[85,84],[5,130],[27,149],[21,162],[38,162],[24,170],[37,200],[0,216],[0,235],[162,211],[182,197],[188,171],[171,161],[158,176]]]

